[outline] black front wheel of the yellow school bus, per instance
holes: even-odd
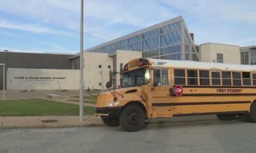
[[[140,131],[145,124],[145,113],[136,105],[128,105],[122,110],[119,122],[126,131]]]

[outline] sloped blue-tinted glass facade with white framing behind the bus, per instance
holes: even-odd
[[[181,18],[176,22],[170,20],[170,24],[163,23],[156,25],[155,29],[150,28],[150,31],[143,29],[141,33],[134,33],[134,36],[125,36],[123,40],[119,38],[119,41],[88,51],[115,55],[116,50],[133,50],[141,51],[142,57],[147,58],[198,61],[198,50],[184,20]]]

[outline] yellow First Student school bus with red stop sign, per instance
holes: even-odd
[[[100,94],[96,111],[104,124],[126,131],[160,117],[243,115],[256,122],[256,66],[134,59],[124,66],[122,88]]]

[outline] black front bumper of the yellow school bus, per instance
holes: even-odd
[[[97,117],[119,117],[121,113],[122,107],[104,107],[104,108],[96,108],[96,113],[94,114]]]

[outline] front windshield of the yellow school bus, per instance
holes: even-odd
[[[122,87],[134,87],[148,84],[149,80],[150,74],[148,67],[134,69],[123,74]]]

